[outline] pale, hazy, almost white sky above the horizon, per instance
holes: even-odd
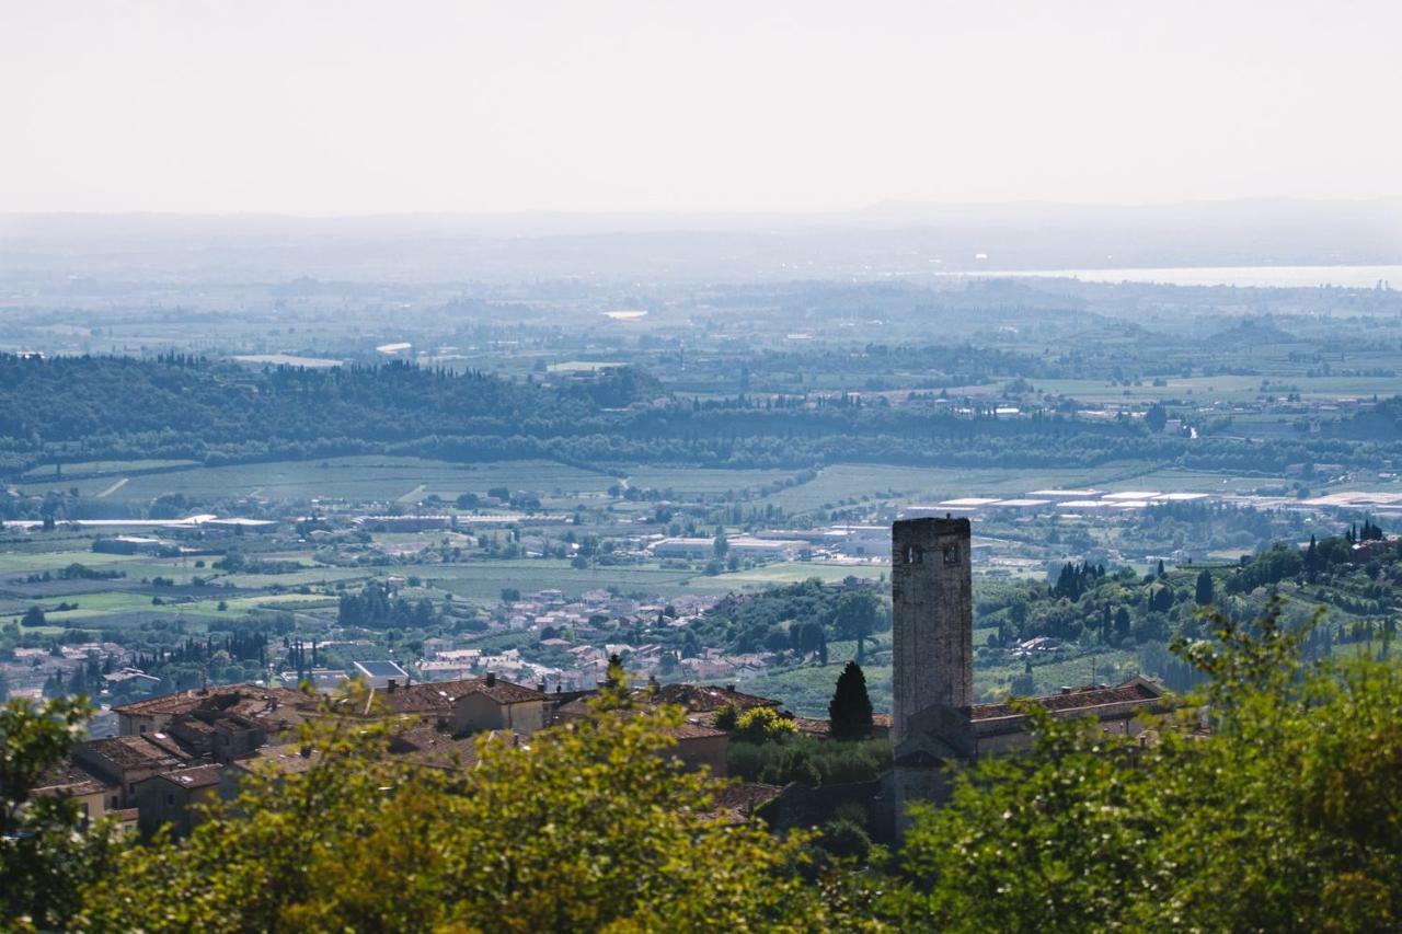
[[[0,0],[0,212],[1402,195],[1402,3]]]

